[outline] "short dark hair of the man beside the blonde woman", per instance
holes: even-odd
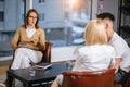
[[[115,22],[115,17],[112,13],[108,13],[108,12],[104,12],[104,13],[101,13],[101,14],[98,14],[96,15],[98,18],[109,18],[110,21]]]

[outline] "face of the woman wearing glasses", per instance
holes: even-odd
[[[37,18],[37,14],[35,12],[30,12],[28,16],[28,26],[35,27]]]

